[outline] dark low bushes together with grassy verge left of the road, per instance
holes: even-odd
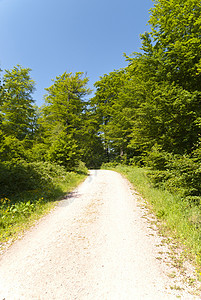
[[[1,164],[0,245],[47,213],[86,174],[82,163],[76,172],[66,172],[63,167],[47,162]]]

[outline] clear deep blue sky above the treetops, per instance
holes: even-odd
[[[67,72],[87,72],[89,87],[139,51],[152,0],[0,0],[0,67],[32,69],[33,98]]]

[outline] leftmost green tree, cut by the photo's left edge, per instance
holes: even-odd
[[[35,83],[30,78],[31,69],[17,65],[5,70],[1,101],[2,130],[19,140],[33,134],[34,107],[32,93]]]

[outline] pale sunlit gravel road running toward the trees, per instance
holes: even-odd
[[[160,243],[129,183],[91,171],[0,257],[0,299],[194,299],[170,288]]]

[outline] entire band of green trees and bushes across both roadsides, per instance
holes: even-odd
[[[55,176],[124,164],[147,168],[155,187],[201,207],[201,3],[156,0],[149,25],[141,51],[124,54],[125,68],[100,77],[92,98],[84,73],[65,72],[37,107],[31,70],[4,70],[2,203],[55,189]]]

